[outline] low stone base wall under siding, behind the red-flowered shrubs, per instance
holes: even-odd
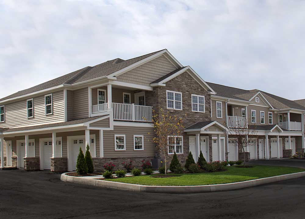
[[[112,162],[115,166],[115,170],[117,169],[123,169],[123,162],[129,162],[130,160],[133,161],[133,165],[136,168],[141,168],[142,166],[142,160],[146,161],[148,160],[149,162],[151,159],[154,159],[155,157],[133,157],[133,158],[92,158],[93,160],[93,166],[94,166],[94,171],[95,172],[100,172],[103,171],[103,165],[106,163]]]

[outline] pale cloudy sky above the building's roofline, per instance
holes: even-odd
[[[305,99],[305,1],[0,0],[0,98],[167,49],[207,82]]]

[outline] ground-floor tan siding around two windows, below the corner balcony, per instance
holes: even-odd
[[[150,133],[150,134],[148,134]],[[126,136],[126,151],[114,150],[114,135],[124,134]],[[144,150],[134,151],[134,135],[144,135]],[[146,157],[155,156],[153,138],[153,127],[124,127],[115,126],[113,131],[104,131],[104,157]]]

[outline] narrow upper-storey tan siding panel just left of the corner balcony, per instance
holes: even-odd
[[[73,118],[80,119],[89,116],[88,87],[73,91]]]

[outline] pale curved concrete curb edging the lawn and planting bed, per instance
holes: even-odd
[[[137,184],[122,183],[122,182],[111,182],[111,181],[98,180],[98,179],[84,179],[76,176],[68,176],[66,175],[66,173],[63,173],[61,175],[60,180],[64,182],[74,182],[84,185],[100,186],[105,188],[129,190],[136,192],[201,193],[201,192],[216,192],[216,191],[243,189],[243,188],[258,186],[271,182],[278,182],[286,179],[295,179],[303,176],[305,176],[305,172],[298,172],[298,173],[272,176],[261,179],[253,179],[243,182],[232,182],[227,184],[203,185],[203,186],[144,186]]]

